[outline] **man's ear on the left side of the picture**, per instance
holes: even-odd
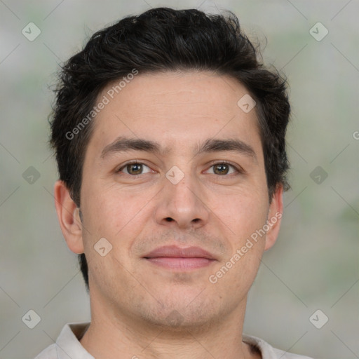
[[[79,208],[72,200],[64,182],[58,180],[54,187],[55,207],[57,218],[69,249],[80,254],[84,252],[82,240],[82,225]]]

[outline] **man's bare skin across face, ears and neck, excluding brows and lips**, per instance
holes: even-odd
[[[91,324],[81,344],[95,358],[261,358],[242,341],[245,305],[280,219],[217,283],[208,280],[283,210],[280,186],[269,204],[256,111],[237,105],[246,93],[235,79],[209,72],[138,74],[94,120],[83,164],[82,223],[65,184],[56,182],[62,233],[69,249],[88,260]],[[165,151],[102,158],[119,136],[158,142]],[[236,151],[194,156],[208,138],[241,140],[256,158]],[[144,163],[142,172],[123,168],[131,160]],[[213,163],[221,161],[243,172]],[[174,165],[184,174],[177,184],[165,177]],[[113,246],[104,257],[94,250],[100,238]],[[143,258],[162,245],[199,246],[217,260],[180,271]]]

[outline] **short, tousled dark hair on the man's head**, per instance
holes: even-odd
[[[286,80],[276,69],[264,67],[259,50],[243,34],[236,15],[226,14],[153,8],[96,32],[83,50],[65,62],[50,115],[50,145],[60,179],[78,207],[83,160],[93,129],[88,114],[107,84],[134,69],[140,74],[211,71],[237,79],[257,102],[269,201],[278,185],[290,188],[286,178],[285,131],[290,116]],[[78,128],[76,136],[74,128]],[[84,254],[79,255],[79,263],[88,290]]]

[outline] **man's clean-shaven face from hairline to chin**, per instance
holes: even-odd
[[[248,91],[207,72],[138,74],[111,99],[113,85],[83,164],[86,230],[67,238],[86,254],[91,301],[156,325],[243,310],[281,210],[255,108],[237,104]]]

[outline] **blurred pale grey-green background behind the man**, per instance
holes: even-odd
[[[290,83],[292,189],[278,241],[250,291],[245,332],[314,358],[359,358],[355,0],[0,1],[0,358],[33,358],[65,323],[90,320],[76,255],[55,213],[49,87],[58,65],[93,32],[157,6],[233,11],[262,43],[264,61]],[[29,22],[41,30],[34,41],[22,34]],[[317,22],[328,30],[320,41],[310,33]],[[40,175],[32,184],[25,180],[30,166]],[[29,309],[41,317],[32,330],[22,323]],[[329,318],[320,329],[309,321],[317,309]]]

